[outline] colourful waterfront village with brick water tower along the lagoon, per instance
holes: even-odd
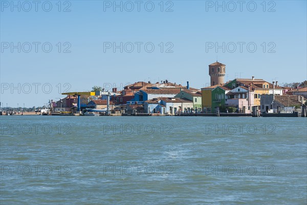
[[[210,85],[201,89],[171,83],[138,81],[123,90],[62,93],[51,100],[42,115],[203,115],[265,116],[294,114],[306,116],[307,87],[282,87],[251,76],[224,82],[226,65],[216,61],[209,65]],[[36,110],[37,114],[38,110]],[[14,113],[12,113],[14,114]],[[281,115],[280,115],[281,116]]]

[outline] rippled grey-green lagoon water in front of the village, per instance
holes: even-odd
[[[307,118],[0,119],[1,204],[307,203]]]

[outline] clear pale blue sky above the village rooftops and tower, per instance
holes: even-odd
[[[307,76],[306,1],[0,1],[2,107],[168,79]]]

